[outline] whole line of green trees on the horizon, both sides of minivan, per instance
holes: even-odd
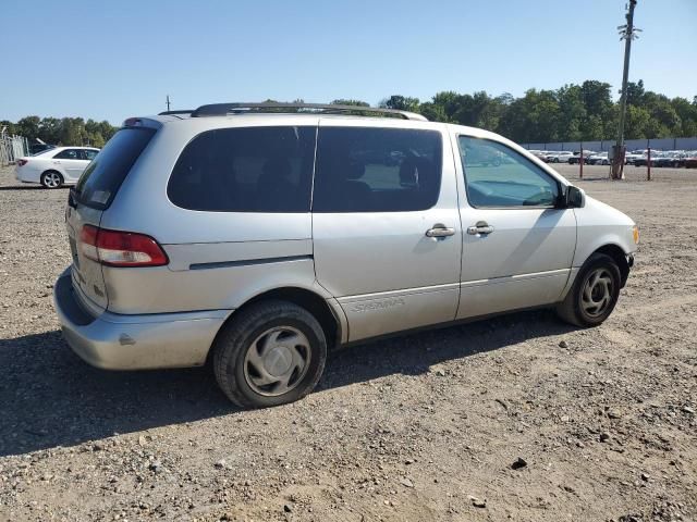
[[[529,89],[519,98],[508,92],[494,97],[486,91],[469,95],[449,90],[430,101],[392,95],[379,105],[417,112],[436,122],[486,128],[519,144],[598,141],[616,137],[620,104],[612,100],[611,89],[610,84],[589,79],[554,90]],[[350,99],[332,103],[370,107]],[[29,140],[94,147],[102,147],[118,129],[107,121],[82,117],[26,116],[16,123],[1,121],[3,125],[9,134]],[[643,80],[631,82],[624,134],[626,139],[697,136],[697,96],[692,101],[668,98],[646,90]]]

